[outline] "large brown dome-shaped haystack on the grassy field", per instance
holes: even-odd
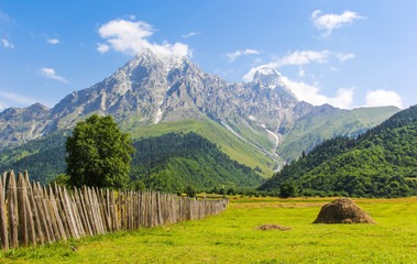
[[[314,223],[376,223],[349,198],[339,198],[325,205]]]

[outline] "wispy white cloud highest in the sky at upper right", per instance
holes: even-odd
[[[339,29],[343,24],[351,24],[354,20],[364,19],[356,12],[344,11],[341,14],[321,14],[321,10],[311,13],[311,20],[319,30],[325,30],[323,36],[328,36],[334,29]]]

